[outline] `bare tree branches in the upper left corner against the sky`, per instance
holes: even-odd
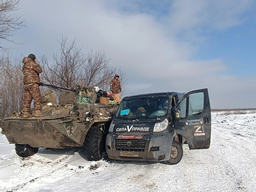
[[[18,3],[19,0],[0,0],[0,39],[13,42],[9,39],[13,36],[12,32],[25,26],[23,25],[24,20],[20,20],[20,17],[9,15],[11,11],[17,10]],[[0,50],[8,51],[9,49],[0,45]]]

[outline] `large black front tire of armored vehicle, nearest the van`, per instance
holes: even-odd
[[[84,146],[88,161],[99,161],[103,152],[103,133],[101,128],[93,127],[87,132]]]

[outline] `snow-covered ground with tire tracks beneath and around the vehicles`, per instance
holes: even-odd
[[[21,158],[0,134],[3,192],[256,192],[256,111],[211,114],[209,149],[189,150],[177,165],[86,160],[82,148]]]

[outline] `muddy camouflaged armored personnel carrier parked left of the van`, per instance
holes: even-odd
[[[10,144],[15,144],[19,156],[34,155],[39,147],[84,146],[89,161],[101,159],[105,133],[117,104],[96,104],[94,87],[64,90],[58,98],[59,103],[53,91],[42,94],[44,117],[23,118],[21,112],[13,112],[12,117],[3,119],[1,133]]]

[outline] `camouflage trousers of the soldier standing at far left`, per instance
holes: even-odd
[[[23,102],[23,112],[30,111],[30,105],[32,100],[34,99],[34,109],[41,110],[42,109],[42,98],[39,90],[39,84],[31,83],[31,85],[24,85],[24,102]]]

